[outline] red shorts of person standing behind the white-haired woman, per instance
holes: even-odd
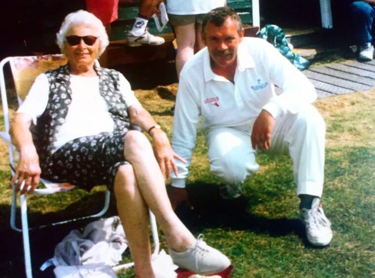
[[[99,18],[103,24],[110,24],[119,18],[119,0],[86,0],[87,11]]]

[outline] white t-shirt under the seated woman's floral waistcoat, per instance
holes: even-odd
[[[56,135],[53,152],[70,140],[114,130],[114,122],[108,112],[109,106],[99,93],[99,77],[71,74],[70,83],[72,102],[69,105],[65,123],[61,125]],[[129,82],[121,73],[120,93],[124,95],[127,107],[138,102],[134,92],[131,91]],[[18,108],[17,113],[30,115],[33,118],[33,123],[37,124],[37,119],[47,106],[48,94],[48,79],[42,73],[35,79],[29,94]]]

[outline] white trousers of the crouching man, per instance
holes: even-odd
[[[271,148],[266,153],[290,154],[297,195],[322,196],[325,132],[324,120],[312,105],[276,119]],[[210,171],[227,184],[232,196],[241,193],[241,185],[259,169],[250,134],[250,126],[219,127],[205,132]]]

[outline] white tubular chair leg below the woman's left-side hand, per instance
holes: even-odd
[[[27,204],[26,194],[20,195],[20,206],[21,206],[21,222],[22,222],[22,238],[23,238],[23,250],[25,257],[25,271],[26,277],[32,278],[31,270],[31,254],[30,254],[30,241],[29,241],[29,225],[27,222]]]

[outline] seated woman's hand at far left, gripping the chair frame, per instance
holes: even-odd
[[[9,187],[12,188],[13,184],[17,182],[16,191],[18,192],[24,182],[21,194],[26,192],[33,193],[39,184],[41,173],[39,156],[34,145],[25,146],[20,150],[20,161],[15,174],[10,180]],[[31,186],[30,189],[28,189],[29,186]]]

